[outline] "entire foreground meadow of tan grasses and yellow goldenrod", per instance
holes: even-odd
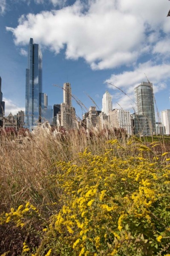
[[[0,149],[1,256],[170,255],[169,140],[38,128]]]

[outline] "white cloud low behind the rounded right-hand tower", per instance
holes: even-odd
[[[147,81],[147,79],[153,83],[154,93],[164,90],[167,88],[167,80],[170,79],[170,64],[156,65],[152,61],[148,61],[139,64],[133,71],[112,75],[105,83],[115,91],[112,96],[113,107],[118,108],[116,104],[118,102],[122,108],[132,110],[132,106],[134,107],[134,87],[141,81]]]

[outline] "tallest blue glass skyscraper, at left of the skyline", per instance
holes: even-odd
[[[41,122],[42,53],[32,38],[29,41],[26,69],[26,127],[30,131]]]

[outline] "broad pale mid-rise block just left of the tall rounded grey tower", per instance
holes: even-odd
[[[109,112],[110,124],[115,128],[123,128],[127,134],[132,134],[130,111],[114,109]]]

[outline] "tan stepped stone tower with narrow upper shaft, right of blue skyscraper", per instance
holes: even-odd
[[[63,103],[61,103],[61,126],[66,130],[77,128],[75,108],[72,107],[72,93],[70,83],[64,83],[63,86]]]

